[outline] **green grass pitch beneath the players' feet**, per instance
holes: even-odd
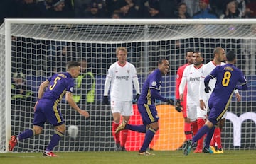
[[[139,156],[135,151],[114,152],[55,152],[58,157],[43,157],[42,153],[0,153],[2,164],[250,164],[256,163],[256,151],[225,151],[223,154],[193,153],[183,156],[183,151],[151,151],[155,156]]]

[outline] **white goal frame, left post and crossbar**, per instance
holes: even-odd
[[[186,24],[254,24],[256,19],[202,19],[202,20],[181,20],[181,19],[9,19],[5,21],[5,83],[11,83],[11,24],[99,24],[99,25],[186,25]],[[2,75],[3,76],[3,75]],[[11,85],[5,89],[5,146],[8,152],[9,139],[11,139]],[[2,105],[1,105],[2,106]]]

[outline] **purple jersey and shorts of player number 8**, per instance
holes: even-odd
[[[240,83],[247,90],[247,81],[242,71],[233,64],[225,64],[224,66],[217,66],[213,71],[206,76],[205,83],[210,79],[216,78],[216,85],[209,98],[210,114],[208,119],[217,123],[223,114],[228,110],[233,91]]]

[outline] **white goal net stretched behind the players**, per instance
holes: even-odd
[[[117,61],[115,49],[119,46],[127,47],[127,60],[136,66],[141,87],[149,72],[156,69],[157,59],[169,59],[170,71],[164,76],[161,95],[173,99],[176,70],[186,63],[186,49],[203,52],[204,63],[213,59],[215,47],[235,50],[236,66],[244,72],[249,90],[240,92],[241,102],[232,100],[221,134],[223,148],[256,148],[256,20],[6,19],[0,27],[0,151],[7,151],[11,135],[33,127],[40,83],[55,72],[65,71],[67,61],[80,59],[87,61],[87,71],[93,77],[77,92],[83,95],[95,85],[93,101],[82,96],[78,102],[90,112],[90,118],[81,117],[63,98],[60,109],[66,127],[75,125],[78,133],[66,131],[54,151],[113,151],[112,114],[109,105],[102,105],[102,95],[107,69]],[[157,102],[157,110],[160,129],[150,148],[182,148],[182,114],[161,102]],[[129,123],[142,124],[136,104]],[[42,151],[53,132],[46,123],[42,134],[18,142],[14,151]],[[137,151],[143,139],[144,134],[129,131],[127,150]]]

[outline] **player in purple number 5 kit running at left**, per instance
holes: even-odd
[[[64,119],[58,109],[58,104],[63,98],[63,95],[65,95],[65,99],[70,106],[80,115],[89,117],[89,113],[85,110],[81,110],[72,97],[74,86],[73,78],[78,77],[79,74],[80,64],[76,61],[69,61],[67,72],[54,74],[52,77],[41,83],[38,90],[38,100],[34,107],[33,129],[27,129],[18,136],[11,136],[11,140],[9,141],[9,151],[13,151],[14,146],[18,141],[41,134],[43,124],[48,121],[55,127],[55,133],[53,134],[48,147],[43,152],[43,156],[57,156],[53,153],[53,148],[58,145],[61,136],[63,136],[65,132]],[[48,88],[46,89],[46,87]]]

